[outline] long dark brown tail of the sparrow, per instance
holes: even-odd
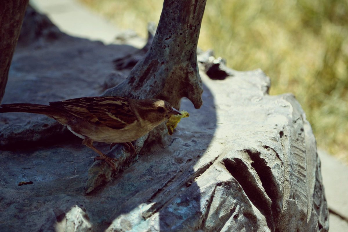
[[[35,114],[55,115],[57,109],[50,105],[39,105],[30,103],[15,103],[0,105],[0,113],[6,112],[27,112]]]

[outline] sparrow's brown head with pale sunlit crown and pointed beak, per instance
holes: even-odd
[[[180,114],[168,102],[161,99],[142,99],[138,102],[139,116],[153,127],[168,120],[173,114]]]

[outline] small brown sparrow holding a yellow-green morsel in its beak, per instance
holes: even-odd
[[[131,99],[126,97],[81,97],[49,105],[16,103],[0,105],[0,113],[27,112],[45,114],[83,138],[82,144],[100,155],[112,168],[112,159],[93,146],[93,142],[125,143],[142,137],[172,114],[181,114],[160,99]]]

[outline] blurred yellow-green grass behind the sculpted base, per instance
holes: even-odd
[[[79,0],[147,37],[163,0]],[[318,147],[348,164],[348,1],[207,0],[198,46],[236,70],[261,68],[270,94],[301,103]]]

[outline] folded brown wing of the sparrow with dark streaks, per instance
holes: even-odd
[[[136,120],[130,99],[125,97],[82,97],[50,102],[50,105],[112,129],[125,129]]]

